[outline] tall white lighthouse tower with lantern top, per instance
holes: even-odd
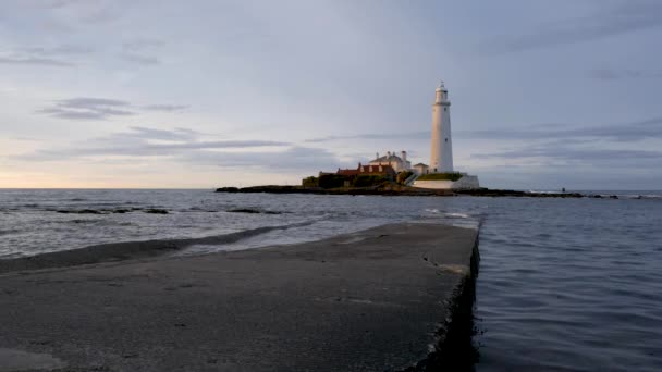
[[[430,173],[453,172],[453,142],[451,139],[451,102],[443,82],[437,87],[432,103],[432,146]]]

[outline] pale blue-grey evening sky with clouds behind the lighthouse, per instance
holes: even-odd
[[[376,152],[662,189],[659,0],[1,0],[0,188],[299,184]]]

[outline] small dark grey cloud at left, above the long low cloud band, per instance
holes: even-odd
[[[148,111],[173,112],[187,108],[184,104],[148,104],[134,106],[131,102],[95,97],[77,97],[54,101],[50,107],[38,110],[38,113],[69,120],[107,120],[114,116],[130,116]]]

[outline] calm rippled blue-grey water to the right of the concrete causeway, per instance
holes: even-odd
[[[492,204],[479,370],[662,371],[662,201]]]

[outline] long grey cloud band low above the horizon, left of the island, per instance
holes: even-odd
[[[340,163],[326,149],[273,140],[205,140],[206,135],[185,129],[134,126],[127,132],[74,142],[61,148],[40,149],[11,157],[21,162],[83,161],[126,162],[160,159],[192,166],[250,168],[265,172],[317,172]],[[274,161],[278,159],[278,161]]]

